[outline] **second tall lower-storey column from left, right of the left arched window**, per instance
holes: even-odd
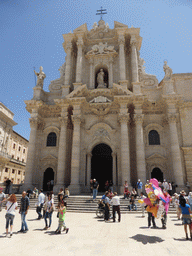
[[[57,181],[54,186],[54,192],[59,192],[60,188],[64,187],[65,176],[65,162],[66,162],[66,133],[67,133],[67,107],[65,108],[65,115],[60,117],[60,137],[59,137],[59,152],[57,163]]]

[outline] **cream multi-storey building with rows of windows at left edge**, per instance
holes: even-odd
[[[25,179],[28,140],[13,126],[14,114],[0,102],[0,183],[9,178],[13,184],[21,184]]]

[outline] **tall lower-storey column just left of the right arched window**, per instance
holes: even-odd
[[[143,114],[134,114],[136,130],[136,165],[137,176],[143,184],[146,182],[145,144],[143,138]]]

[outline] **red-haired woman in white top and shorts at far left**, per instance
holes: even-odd
[[[5,218],[6,218],[6,236],[8,236],[8,229],[10,225],[10,237],[13,235],[13,220],[15,218],[15,210],[17,210],[17,198],[15,194],[12,194],[6,204],[5,209],[7,210]]]

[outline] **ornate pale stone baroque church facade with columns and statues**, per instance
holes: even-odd
[[[145,72],[139,28],[100,20],[63,35],[60,78],[43,90],[40,68],[32,100],[25,188],[89,191],[91,178],[122,192],[151,177],[192,185],[192,73],[164,79]]]

